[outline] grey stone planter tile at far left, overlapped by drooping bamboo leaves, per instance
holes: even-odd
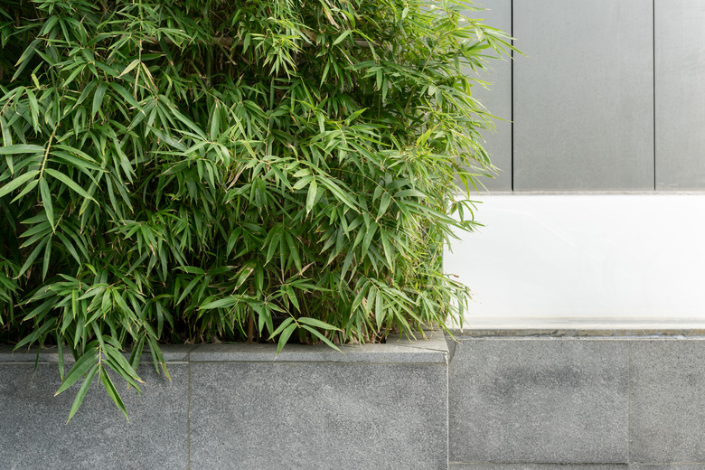
[[[0,365],[0,467],[11,470],[185,469],[188,464],[188,366],[173,364],[173,382],[150,364],[139,373],[142,396],[110,374],[129,422],[94,386],[66,424],[78,386],[58,397],[56,364]],[[96,378],[98,381],[98,378]]]

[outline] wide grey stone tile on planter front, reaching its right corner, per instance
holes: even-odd
[[[445,469],[445,364],[194,362],[191,467]]]

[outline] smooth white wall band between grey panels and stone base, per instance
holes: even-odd
[[[478,196],[444,263],[480,326],[705,324],[705,195]]]

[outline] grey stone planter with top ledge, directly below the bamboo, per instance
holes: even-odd
[[[447,468],[447,343],[172,346],[173,381],[140,366],[130,420],[92,390],[59,388],[57,354],[0,349],[0,462],[8,469]],[[71,364],[67,364],[71,366]],[[68,367],[67,367],[68,370]],[[77,389],[76,389],[77,390]]]

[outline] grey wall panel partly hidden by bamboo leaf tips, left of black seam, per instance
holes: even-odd
[[[484,24],[510,32],[512,29],[512,0],[484,0],[480,2],[486,8],[482,11],[468,11],[467,16],[483,19]],[[473,88],[473,96],[496,118],[495,131],[486,131],[485,150],[490,154],[492,163],[499,168],[494,179],[482,178],[480,181],[491,192],[512,191],[512,62],[490,61],[488,71],[477,75],[469,71],[468,75],[489,83],[489,89],[482,86]]]

